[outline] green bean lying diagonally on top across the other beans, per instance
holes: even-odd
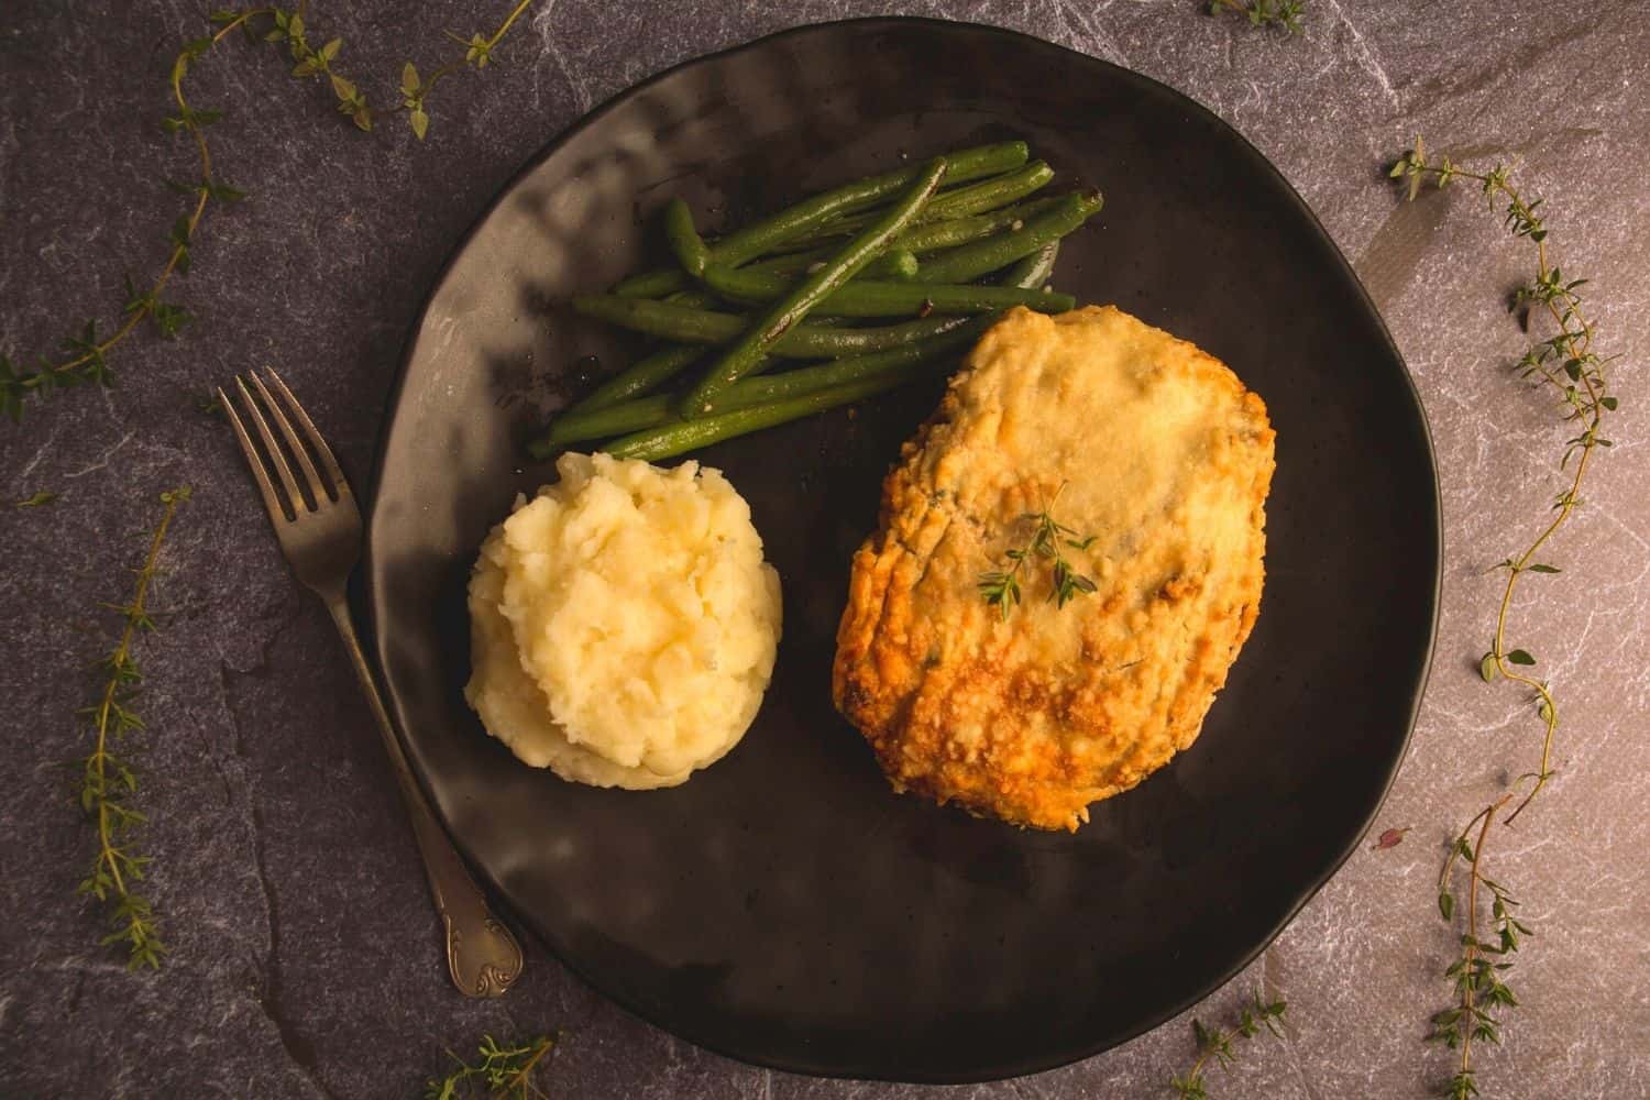
[[[945,158],[940,157],[927,165],[904,196],[868,226],[860,236],[848,241],[837,259],[825,264],[807,279],[787,289],[785,295],[757,323],[724,351],[700,378],[681,406],[683,419],[696,419],[716,407],[716,397],[728,386],[734,384],[751,371],[756,363],[767,355],[767,350],[779,341],[790,328],[799,325],[815,305],[830,297],[838,287],[853,279],[861,267],[888,249],[901,229],[921,213],[932,198],[939,181],[945,178]]]

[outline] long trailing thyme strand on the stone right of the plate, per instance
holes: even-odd
[[[1564,440],[1564,454],[1559,458],[1559,470],[1566,473],[1568,480],[1549,510],[1556,515],[1549,515],[1539,524],[1534,538],[1520,554],[1506,557],[1497,566],[1497,569],[1506,571],[1506,582],[1502,587],[1490,650],[1478,661],[1478,671],[1485,681],[1506,679],[1530,691],[1543,727],[1539,764],[1536,770],[1518,775],[1510,790],[1467,821],[1455,834],[1439,872],[1439,914],[1454,924],[1452,874],[1459,863],[1465,864],[1467,905],[1462,919],[1467,927],[1460,937],[1460,958],[1445,971],[1445,978],[1455,986],[1455,1003],[1432,1018],[1432,1032],[1427,1037],[1459,1051],[1460,1057],[1449,1084],[1449,1095],[1455,1100],[1465,1100],[1478,1095],[1477,1070],[1472,1062],[1473,1042],[1500,1042],[1500,1021],[1492,1014],[1492,1009],[1518,1004],[1511,990],[1502,981],[1502,975],[1513,965],[1510,955],[1518,950],[1518,937],[1530,933],[1530,928],[1511,917],[1516,902],[1500,884],[1483,874],[1485,843],[1495,816],[1506,805],[1513,803],[1511,813],[1505,818],[1505,823],[1511,825],[1554,775],[1553,745],[1558,736],[1558,701],[1551,683],[1523,671],[1534,666],[1536,658],[1528,650],[1508,645],[1513,592],[1526,574],[1559,572],[1558,566],[1538,561],[1538,556],[1581,506],[1581,487],[1594,450],[1612,445],[1602,429],[1605,416],[1615,412],[1619,402],[1609,389],[1607,360],[1592,351],[1594,323],[1582,313],[1581,287],[1587,280],[1566,275],[1553,262],[1539,198],[1526,200],[1513,186],[1510,170],[1505,165],[1495,165],[1480,173],[1462,168],[1449,157],[1429,160],[1419,137],[1414,148],[1393,165],[1391,176],[1404,181],[1411,200],[1419,195],[1424,183],[1444,188],[1457,180],[1472,180],[1478,185],[1490,208],[1502,214],[1506,229],[1515,237],[1534,246],[1534,277],[1513,294],[1511,310],[1525,325],[1528,325],[1531,312],[1546,313],[1553,325],[1553,335],[1525,351],[1515,369],[1520,378],[1533,381],[1538,389],[1551,389],[1564,411],[1564,422],[1576,425],[1576,434]],[[1574,465],[1571,465],[1572,462]],[[1490,896],[1493,942],[1478,938],[1480,886]]]

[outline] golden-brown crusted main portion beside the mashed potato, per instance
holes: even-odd
[[[837,632],[894,790],[1076,830],[1190,745],[1261,605],[1272,442],[1219,360],[1122,310],[995,325],[883,483]],[[1097,590],[1058,609],[1028,561],[1003,620],[980,574],[1056,493]]]

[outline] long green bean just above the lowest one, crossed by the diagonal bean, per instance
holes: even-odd
[[[969,325],[955,328],[942,336],[919,340],[903,348],[893,348],[891,351],[833,360],[818,366],[802,366],[771,378],[742,378],[728,388],[728,393],[723,396],[723,407],[746,409],[757,404],[769,404],[772,401],[800,397],[820,389],[830,389],[833,386],[856,383],[886,373],[911,371],[916,366],[940,360],[957,348],[972,343],[995,320],[995,317],[975,318]],[[658,427],[660,424],[668,424],[676,419],[676,401],[678,399],[672,394],[657,394],[653,397],[639,397],[635,401],[625,401],[602,409],[569,409],[566,412],[559,412],[556,419],[549,422],[549,430],[533,440],[528,449],[533,452],[535,458],[543,460],[568,444],[589,439],[610,439],[625,432]]]

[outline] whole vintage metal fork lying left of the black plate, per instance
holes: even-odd
[[[264,495],[264,506],[269,510],[269,521],[276,526],[276,536],[280,539],[280,551],[285,554],[287,564],[292,566],[297,579],[318,595],[327,610],[332,612],[332,620],[343,637],[343,648],[350,655],[350,665],[355,666],[361,691],[366,693],[373,717],[378,719],[378,732],[383,734],[384,750],[389,754],[389,764],[401,787],[401,800],[406,803],[408,816],[412,818],[412,834],[424,856],[424,874],[429,877],[436,912],[441,914],[447,932],[447,970],[452,973],[452,981],[465,996],[500,996],[521,973],[521,947],[503,922],[487,909],[487,899],[464,867],[459,853],[452,849],[452,843],[436,820],[424,792],[412,778],[408,759],[401,752],[401,740],[389,724],[384,701],[378,694],[373,673],[361,655],[355,623],[350,622],[345,585],[360,559],[361,511],[355,505],[355,495],[350,491],[350,483],[343,478],[337,458],[332,457],[332,449],[315,430],[315,422],[304,412],[304,406],[297,402],[280,376],[272,369],[267,369],[267,386],[256,371],[249,374],[252,389],[257,391],[261,401],[252,397],[252,389],[248,389],[246,381],[234,379],[246,419],[252,422],[257,439],[264,444],[262,450],[252,444],[246,424],[236,412],[236,402],[223,389],[218,389],[218,401],[229,416],[234,437],[241,440],[241,450],[246,452],[252,480],[257,482],[257,488]],[[276,399],[276,394],[280,396],[280,401]],[[285,440],[285,447],[276,442],[276,435],[269,429],[271,421],[280,432],[280,439]],[[297,429],[294,429],[294,422],[297,422]],[[302,430],[302,440],[299,430]],[[292,475],[289,457],[297,463],[302,478]],[[320,470],[317,470],[317,463]]]

